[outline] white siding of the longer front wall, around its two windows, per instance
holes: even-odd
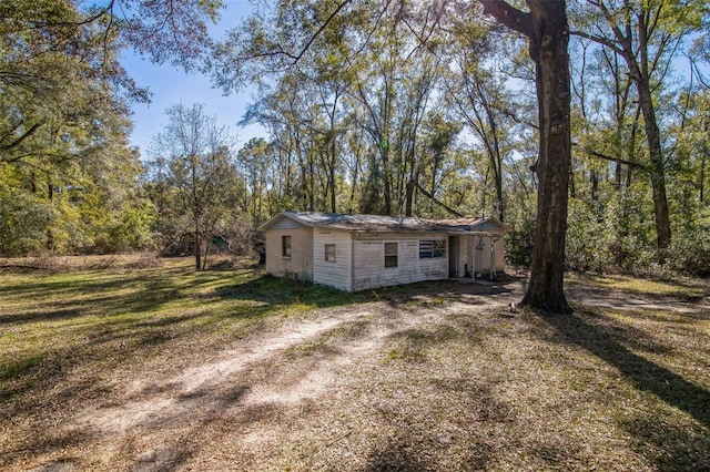
[[[440,233],[354,235],[353,290],[448,278],[448,254],[419,259],[419,239],[445,238]],[[397,243],[397,267],[385,267],[385,243]]]

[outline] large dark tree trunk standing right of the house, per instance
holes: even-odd
[[[571,156],[566,2],[527,0],[530,13],[525,13],[503,0],[479,1],[485,12],[530,40],[530,57],[535,61],[539,186],[530,281],[521,305],[548,312],[569,312],[562,287]]]

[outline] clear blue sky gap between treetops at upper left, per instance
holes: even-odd
[[[211,29],[215,34],[236,27],[241,17],[248,13],[251,8],[246,0],[225,0],[224,4],[226,8],[222,12],[220,23]],[[165,110],[181,102],[185,105],[204,104],[207,115],[215,116],[219,125],[229,126],[232,134],[236,135],[237,148],[252,137],[266,137],[260,125],[241,127],[236,124],[252,101],[252,91],[224,96],[221,90],[212,86],[207,76],[199,73],[186,74],[169,64],[153,64],[132,51],[122,54],[121,63],[139,86],[149,88],[153,94],[151,103],[132,105],[133,132],[130,143],[140,147],[142,158],[150,157],[148,151],[153,136],[168,124]]]

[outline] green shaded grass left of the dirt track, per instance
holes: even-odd
[[[244,264],[224,269],[217,261],[216,269],[196,271],[189,258],[150,267],[135,256],[102,260],[32,260],[39,270],[0,273],[0,403],[21,402],[72,369],[100,378],[106,369],[200,351],[206,340],[225,345],[266,324],[353,300]]]

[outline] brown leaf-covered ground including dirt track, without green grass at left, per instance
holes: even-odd
[[[697,284],[689,302],[578,277],[569,317],[510,316],[514,278],[296,314],[272,300],[232,341],[166,337],[151,358],[72,365],[3,398],[0,466],[708,470],[710,302]]]

